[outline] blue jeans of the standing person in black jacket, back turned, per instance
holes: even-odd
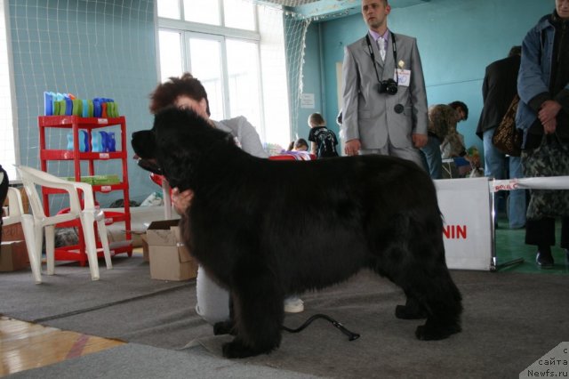
[[[509,178],[506,177],[506,155],[496,149],[492,143],[495,130],[496,128],[487,130],[483,135],[485,176],[495,179],[523,178],[524,173],[520,157],[509,157]],[[494,211],[497,214],[497,209]],[[509,191],[508,218],[509,227],[512,229],[522,228],[525,225],[525,189]]]

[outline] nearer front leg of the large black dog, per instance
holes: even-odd
[[[227,358],[268,353],[281,342],[284,295],[268,273],[261,276],[267,278],[247,278],[241,286],[232,288],[236,337],[223,345]]]

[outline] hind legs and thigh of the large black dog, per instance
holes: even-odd
[[[421,340],[439,340],[460,332],[461,294],[446,268],[442,232],[413,218],[401,216],[394,221],[397,228],[382,246],[376,270],[405,291],[407,302],[397,306],[397,317],[427,317],[415,333]]]

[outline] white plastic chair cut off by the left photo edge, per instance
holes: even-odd
[[[34,218],[31,214],[25,214],[21,203],[21,195],[18,189],[8,188],[8,204],[10,206],[7,216],[2,217],[4,225],[12,225],[21,222],[21,228],[24,231],[24,239],[26,240],[26,248],[28,249],[29,265],[32,268],[32,275],[36,284],[42,282],[41,258],[36,254],[36,245],[34,241]]]

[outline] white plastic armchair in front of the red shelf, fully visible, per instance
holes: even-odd
[[[77,218],[81,220],[81,225],[83,227],[85,250],[89,260],[89,269],[91,270],[92,280],[99,279],[99,262],[97,261],[97,246],[93,227],[94,222],[97,222],[100,243],[102,245],[103,254],[105,255],[107,269],[112,269],[113,265],[110,260],[110,251],[108,248],[105,215],[102,210],[95,207],[91,184],[79,181],[66,181],[50,173],[45,173],[44,171],[23,165],[16,166],[16,169],[20,173],[21,181],[24,184],[24,188],[28,194],[29,204],[32,208],[37,257],[41,256],[43,231],[45,230],[47,275],[53,275],[55,268],[55,224],[76,220]],[[42,201],[36,190],[36,185],[45,188],[65,190],[69,196],[69,212],[66,214],[46,216],[44,206],[42,205]],[[78,189],[83,191],[84,209],[81,209],[81,202],[77,192]]]

